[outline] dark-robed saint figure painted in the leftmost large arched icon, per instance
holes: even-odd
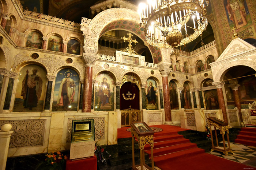
[[[37,75],[37,68],[33,68],[33,74],[29,75],[29,70],[26,71],[27,74],[22,81],[22,91],[21,96],[23,96],[24,102],[23,106],[25,108],[29,107],[32,110],[33,107],[37,107],[37,102],[39,101],[42,94],[42,79]]]

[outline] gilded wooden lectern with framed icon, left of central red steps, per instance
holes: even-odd
[[[133,170],[154,170],[153,147],[154,147],[154,131],[145,122],[132,122],[132,169]],[[135,165],[134,161],[134,136],[138,139],[140,149],[140,165]],[[145,164],[144,146],[151,146],[151,163],[152,168]]]

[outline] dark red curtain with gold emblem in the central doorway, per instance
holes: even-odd
[[[130,92],[130,96],[128,96],[128,92]],[[132,98],[133,95],[135,94],[135,98],[132,100],[125,100],[123,97],[123,94],[125,96],[125,98]],[[129,106],[131,106],[131,108],[133,109],[138,109],[140,110],[140,96],[139,96],[139,87],[137,85],[134,85],[132,82],[125,82],[124,84],[122,84],[121,86],[121,90],[120,90],[120,110],[124,110],[127,108],[130,108]]]

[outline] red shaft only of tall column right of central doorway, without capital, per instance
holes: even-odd
[[[167,76],[162,76],[163,82],[163,103],[165,108],[165,122],[172,124],[171,106],[170,106],[170,95]]]

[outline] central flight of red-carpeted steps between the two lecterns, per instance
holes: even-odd
[[[182,131],[182,133],[193,135],[189,134],[190,131]],[[144,150],[151,158],[150,146],[146,145]],[[156,166],[177,158],[184,158],[199,153],[204,153],[204,150],[198,148],[195,143],[191,143],[189,139],[185,139],[183,135],[176,133],[154,137],[153,157]]]

